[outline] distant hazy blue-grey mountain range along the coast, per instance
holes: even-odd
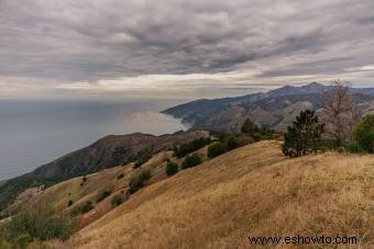
[[[285,86],[268,92],[258,92],[237,98],[197,100],[163,111],[182,118],[196,129],[212,132],[239,132],[245,118],[251,117],[262,127],[285,131],[292,121],[306,109],[318,110],[320,93],[330,86],[312,82],[302,87]],[[374,111],[374,88],[355,89],[365,98],[353,98],[364,112]]]

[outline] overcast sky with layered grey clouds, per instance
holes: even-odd
[[[372,0],[0,0],[2,98],[374,87]]]

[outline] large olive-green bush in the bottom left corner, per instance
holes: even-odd
[[[41,240],[66,240],[76,230],[69,215],[45,203],[26,204],[9,222],[0,225],[0,248],[46,248]]]

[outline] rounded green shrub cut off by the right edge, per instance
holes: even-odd
[[[374,152],[374,115],[365,115],[356,124],[353,133],[356,148],[366,152]]]

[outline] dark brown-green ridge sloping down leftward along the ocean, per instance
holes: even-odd
[[[18,194],[28,188],[43,184],[50,186],[62,180],[127,165],[142,155],[154,155],[173,148],[174,145],[206,136],[209,136],[209,133],[204,131],[162,136],[141,133],[107,136],[86,148],[41,166],[31,173],[2,183],[0,185],[0,214],[15,200]]]

